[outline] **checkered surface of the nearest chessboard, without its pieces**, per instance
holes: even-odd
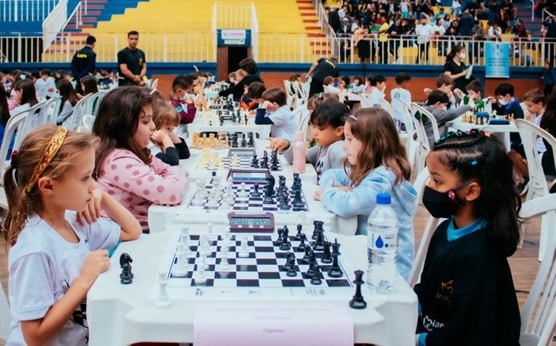
[[[168,287],[204,287],[214,289],[226,288],[249,288],[249,289],[283,289],[300,288],[302,294],[318,295],[320,290],[330,288],[350,288],[342,292],[353,293],[349,265],[346,267],[342,256],[338,257],[338,265],[341,268],[340,277],[330,277],[328,271],[332,264],[323,263],[323,252],[315,251],[316,263],[320,268],[319,284],[311,283],[311,277],[307,274],[309,264],[304,259],[305,251],[298,250],[299,240],[289,236],[291,249],[281,250],[277,244],[277,236],[257,235],[257,234],[214,234],[214,235],[178,235],[169,244],[169,256],[164,264]],[[176,253],[180,243],[185,243],[188,248],[186,254]],[[247,246],[240,250],[244,243]],[[305,242],[308,245],[314,244],[313,240]],[[202,246],[201,244],[205,244]],[[207,246],[208,245],[208,246]],[[183,246],[183,245],[182,245]],[[222,248],[228,247],[225,262],[223,264]],[[247,249],[245,254],[245,249]],[[240,254],[241,253],[241,254]],[[286,264],[288,254],[295,255],[296,275],[288,275],[283,268]],[[243,255],[243,257],[241,257]],[[179,276],[173,272],[178,266],[178,262],[187,261],[187,269],[181,271]],[[203,258],[203,260],[200,260]],[[201,283],[196,282],[199,266],[203,265],[205,271]],[[200,264],[201,262],[201,264]],[[183,268],[182,268],[183,269]],[[313,289],[317,289],[314,291]],[[194,293],[195,291],[192,291]],[[198,291],[197,291],[198,292]],[[248,291],[249,292],[249,291]],[[325,292],[325,291],[321,291]],[[195,294],[195,293],[194,293]],[[321,293],[325,294],[325,293]]]

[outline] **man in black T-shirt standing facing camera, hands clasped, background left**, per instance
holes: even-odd
[[[139,33],[132,30],[127,33],[128,46],[118,52],[119,86],[144,86],[147,75],[147,60],[145,52],[137,48]]]

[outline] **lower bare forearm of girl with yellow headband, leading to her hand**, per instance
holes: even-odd
[[[97,277],[109,267],[108,251],[90,252],[79,276],[72,282],[64,296],[48,309],[44,317],[20,322],[27,345],[44,345],[58,334],[81,304]]]

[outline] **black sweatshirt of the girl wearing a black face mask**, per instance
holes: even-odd
[[[519,345],[512,273],[487,227],[480,219],[454,229],[450,219],[436,229],[415,286],[419,345]]]

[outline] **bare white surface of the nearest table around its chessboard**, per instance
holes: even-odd
[[[140,341],[193,341],[196,309],[202,304],[203,298],[186,295],[170,296],[171,306],[166,308],[156,306],[153,298],[161,258],[172,237],[176,237],[176,232],[168,231],[143,235],[136,241],[120,245],[112,257],[110,269],[100,275],[88,293],[87,317],[90,345],[129,345]],[[367,256],[365,238],[339,235],[337,238],[342,244],[342,256],[348,256],[356,269],[364,270]],[[129,253],[133,258],[134,279],[130,285],[120,284],[118,260],[122,252]],[[342,297],[341,300],[336,298],[338,303],[345,303],[345,308],[351,315],[355,342],[393,346],[414,345],[417,297],[403,279],[399,278],[397,290],[391,295],[372,295],[366,287],[363,287],[362,291],[368,304],[364,310],[353,310],[348,307],[353,292]],[[206,299],[205,297],[205,301]],[[277,301],[277,299],[272,300]],[[315,297],[298,300],[298,302],[299,304],[305,301],[314,303],[318,302],[318,299],[322,301],[322,298]],[[231,300],[222,297],[211,301],[222,303],[239,301],[249,304],[251,301],[264,302],[264,298],[257,300],[249,296],[248,299]],[[291,300],[283,298],[280,301]],[[334,319],[335,317],[323,315],[322,318]]]

